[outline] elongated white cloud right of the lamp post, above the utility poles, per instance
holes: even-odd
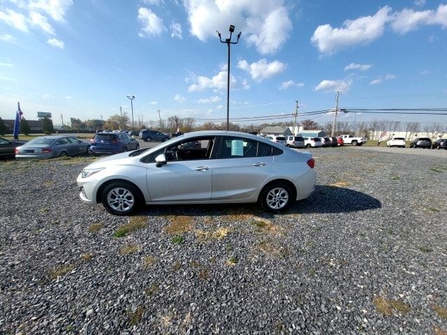
[[[386,22],[390,20],[391,8],[385,6],[372,16],[346,20],[341,28],[332,28],[330,24],[318,26],[311,42],[322,54],[330,54],[345,47],[368,44],[383,35]]]

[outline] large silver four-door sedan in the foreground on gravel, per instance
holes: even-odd
[[[200,142],[200,148],[182,149]],[[246,133],[200,131],[87,165],[81,200],[127,215],[143,204],[259,202],[285,211],[314,191],[312,154]]]

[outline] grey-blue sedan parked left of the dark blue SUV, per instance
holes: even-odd
[[[96,134],[98,135],[98,134]],[[42,136],[15,148],[15,158],[54,158],[89,154],[90,144],[72,136]]]

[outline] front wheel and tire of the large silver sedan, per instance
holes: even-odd
[[[142,205],[140,190],[127,181],[113,181],[103,188],[101,202],[111,214],[129,215]]]

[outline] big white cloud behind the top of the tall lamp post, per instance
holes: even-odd
[[[184,7],[190,32],[199,40],[216,38],[216,29],[227,38],[230,22],[237,29],[235,34],[243,31],[242,38],[261,54],[276,52],[292,29],[284,0],[184,0]]]

